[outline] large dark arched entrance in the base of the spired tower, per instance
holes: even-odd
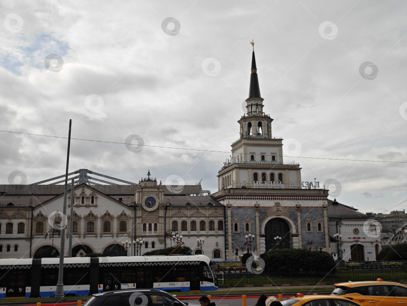
[[[266,236],[266,251],[270,249],[291,248],[290,227],[283,218],[272,218],[269,220],[264,227],[264,234]],[[281,239],[279,239],[280,237]]]

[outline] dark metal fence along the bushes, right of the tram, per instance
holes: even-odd
[[[226,273],[225,273],[226,272]],[[253,274],[247,270],[223,271],[217,273],[220,284],[230,286],[252,285],[281,285],[281,284],[318,284],[318,283],[340,283],[347,281],[376,280],[381,278],[386,281],[401,282],[407,279],[407,268],[402,265],[388,265],[377,267],[349,267],[332,271],[331,273],[320,273],[317,271],[301,271],[284,273],[260,273]]]

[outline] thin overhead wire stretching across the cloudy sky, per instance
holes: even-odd
[[[42,137],[61,138],[61,139],[67,139],[67,138],[68,138],[68,137],[64,137],[64,136],[53,136],[53,135],[33,134],[33,133],[14,132],[14,131],[5,131],[5,130],[0,130],[0,132],[4,132],[4,133],[14,133],[14,134],[22,134],[22,135],[31,135],[31,136],[42,136]],[[130,144],[130,145],[133,144],[133,143],[126,143],[126,142],[106,141],[106,140],[95,140],[95,139],[83,139],[83,138],[72,138],[72,137],[71,137],[71,139],[73,139],[73,140],[82,140],[82,141],[114,143],[114,144]],[[201,152],[214,152],[214,153],[227,153],[227,154],[230,154],[230,151],[191,149],[191,148],[184,148],[184,147],[149,145],[149,144],[137,144],[137,145],[140,145],[140,146],[147,146],[147,147],[164,148],[164,149],[177,149],[177,150],[189,150],[189,151],[201,151]],[[328,160],[328,161],[350,161],[350,162],[370,162],[370,163],[396,163],[396,164],[407,164],[407,161],[406,161],[406,162],[371,161],[371,160],[333,159],[333,158],[322,158],[322,157],[287,156],[287,155],[283,155],[283,157],[287,157],[287,158],[298,158],[298,159],[311,159],[311,160]]]

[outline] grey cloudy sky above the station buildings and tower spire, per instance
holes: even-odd
[[[254,39],[284,162],[362,212],[407,208],[407,3],[0,3],[0,184],[63,175],[72,119],[69,171],[217,191]]]

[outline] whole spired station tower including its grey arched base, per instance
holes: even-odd
[[[272,135],[273,119],[265,114],[263,101],[253,46],[239,138],[218,172],[213,194],[226,206],[226,258],[249,252],[259,256],[275,248],[329,251],[328,192],[317,189],[318,182],[302,182],[299,164],[284,163],[282,138]]]

